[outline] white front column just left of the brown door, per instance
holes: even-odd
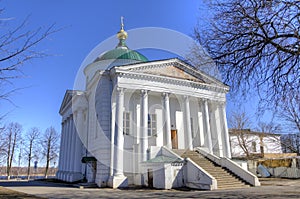
[[[163,107],[164,107],[164,130],[166,134],[166,147],[172,149],[172,140],[171,140],[171,118],[170,118],[170,100],[169,93],[163,93]]]

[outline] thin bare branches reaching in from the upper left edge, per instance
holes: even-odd
[[[0,15],[4,9],[0,9]],[[16,88],[12,85],[15,78],[21,77],[21,66],[34,58],[47,56],[37,46],[49,35],[58,31],[54,25],[27,30],[28,18],[13,26],[13,18],[0,18],[0,99],[8,100]]]

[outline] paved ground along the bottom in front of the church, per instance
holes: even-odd
[[[300,198],[300,180],[263,179],[263,186],[216,191],[79,189],[41,181],[0,181],[0,186],[44,198]]]

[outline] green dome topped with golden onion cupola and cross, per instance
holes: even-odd
[[[148,61],[148,59],[144,55],[127,47],[125,40],[127,39],[128,34],[124,30],[123,18],[121,18],[121,30],[118,32],[117,37],[119,39],[119,44],[117,45],[117,47],[113,50],[109,50],[101,54],[95,59],[94,62],[109,59],[128,59],[140,62]]]

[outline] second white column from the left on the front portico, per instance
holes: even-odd
[[[141,90],[141,154],[142,161],[147,161],[148,149],[148,91]]]

